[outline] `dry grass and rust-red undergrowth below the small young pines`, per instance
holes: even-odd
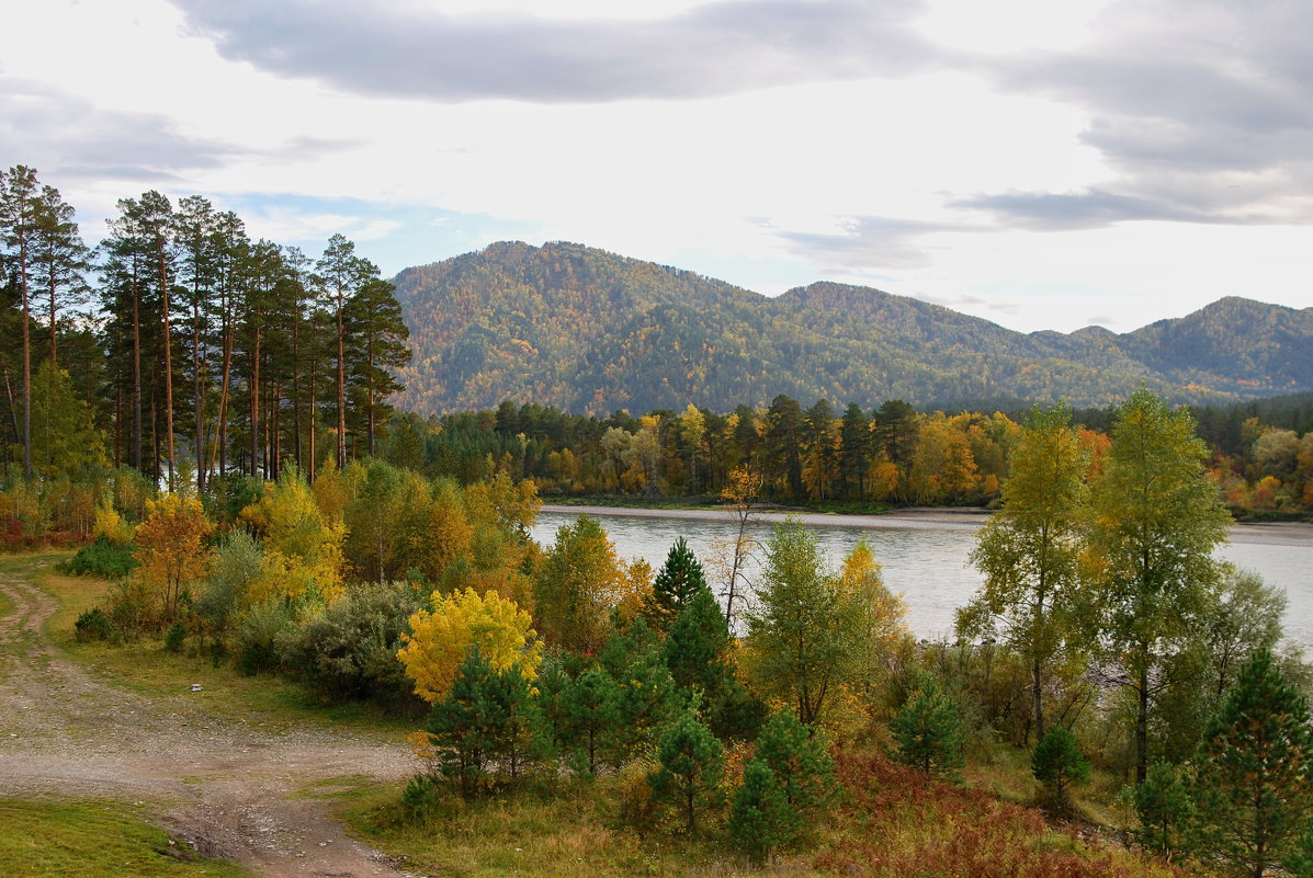
[[[843,805],[814,829],[806,847],[760,868],[734,854],[723,818],[709,822],[700,839],[624,826],[616,778],[562,781],[551,791],[475,801],[444,794],[419,819],[403,812],[398,785],[344,778],[341,786],[330,785],[324,798],[336,798],[335,810],[353,832],[408,870],[460,878],[1186,874],[1124,849],[1116,835],[1085,822],[1053,823],[1028,807],[1033,786],[1019,780],[1023,759],[999,756],[991,768],[970,772],[972,784],[979,786],[955,786],[876,752],[843,752],[838,761]],[[1083,803],[1078,807],[1085,810]]]

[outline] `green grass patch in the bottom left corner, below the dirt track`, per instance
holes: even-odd
[[[226,860],[198,856],[126,805],[0,799],[0,874],[244,878],[251,873]]]

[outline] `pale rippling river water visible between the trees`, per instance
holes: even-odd
[[[601,521],[621,558],[642,558],[653,570],[660,568],[678,537],[687,539],[705,559],[717,541],[729,541],[734,534],[734,525],[722,512],[544,507],[532,530],[533,538],[550,546],[557,529],[584,512]],[[885,585],[903,593],[907,626],[916,637],[951,635],[953,610],[982,583],[968,556],[976,545],[976,532],[985,521],[983,513],[800,517],[835,570],[857,539],[867,538],[876,560],[884,566]],[[781,516],[763,513],[759,518],[752,533],[764,543]],[[1236,525],[1218,556],[1285,591],[1285,637],[1313,655],[1313,525]],[[754,564],[748,577],[755,574]],[[708,575],[708,581],[710,579]],[[712,585],[717,588],[716,583]]]

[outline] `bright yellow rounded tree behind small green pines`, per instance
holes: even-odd
[[[542,640],[515,601],[466,588],[452,595],[435,592],[432,602],[432,612],[411,616],[412,633],[402,634],[406,646],[397,652],[420,698],[431,703],[445,698],[473,647],[495,671],[519,667],[527,679],[537,676]]]

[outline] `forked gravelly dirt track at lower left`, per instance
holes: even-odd
[[[414,769],[403,747],[160,706],[60,658],[42,633],[55,610],[47,593],[4,574],[0,592],[14,605],[0,619],[0,794],[144,803],[184,843],[259,875],[411,874],[347,836],[322,801],[293,798],[315,781],[404,777]]]

